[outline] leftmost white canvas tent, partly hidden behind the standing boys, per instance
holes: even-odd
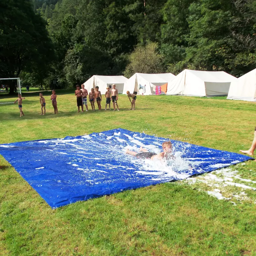
[[[118,93],[123,93],[124,89],[124,82],[127,81],[128,78],[124,76],[97,76],[94,75],[91,78],[89,78],[84,83],[84,89],[86,89],[89,92],[91,92],[91,89],[96,86],[99,86],[99,91],[101,94],[105,94],[107,91],[107,87],[112,84],[116,84],[116,89],[118,90]]]

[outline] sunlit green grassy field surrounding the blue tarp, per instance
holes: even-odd
[[[50,92],[44,95],[45,116],[39,115],[38,92],[23,93],[21,118],[18,105],[0,104],[1,143],[118,127],[237,153],[248,149],[253,139],[253,102],[137,96],[136,110],[129,111],[129,100],[120,95],[119,112],[76,113],[73,93],[57,91],[58,115],[53,114]],[[0,103],[14,100],[0,97]],[[209,184],[185,180],[52,210],[2,156],[0,160],[0,255],[256,255],[252,190],[244,190],[244,200],[234,197],[231,203],[209,196]],[[248,161],[231,170],[243,179],[256,180],[255,167],[256,162]],[[243,192],[221,189],[226,190],[224,195]]]

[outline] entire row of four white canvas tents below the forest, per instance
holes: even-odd
[[[256,101],[256,68],[236,78],[224,71],[185,69],[177,76],[171,73],[135,73],[124,76],[92,76],[84,83],[85,89],[99,86],[101,92],[116,84],[119,93],[137,92],[140,95],[228,96],[227,99]]]

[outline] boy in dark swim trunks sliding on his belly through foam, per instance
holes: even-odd
[[[159,154],[148,152],[147,149],[140,147],[140,153],[135,151],[130,151],[129,149],[126,149],[125,153],[129,154],[131,156],[135,156],[137,158],[141,159],[151,159],[154,160],[162,160],[162,159],[171,159],[174,156],[172,155],[172,143],[171,141],[164,141],[162,143],[162,147],[164,152],[161,152]]]

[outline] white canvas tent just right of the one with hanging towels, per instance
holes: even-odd
[[[237,78],[224,71],[197,71],[185,69],[167,86],[167,95],[224,96],[230,83]]]

